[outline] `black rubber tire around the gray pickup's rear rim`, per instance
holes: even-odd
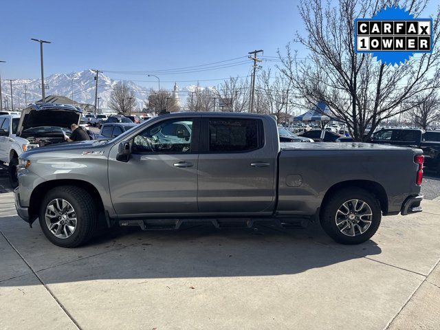
[[[359,227],[356,228],[357,236],[347,236],[340,228],[344,227],[341,224],[340,227],[336,225],[336,214],[342,207],[342,204],[352,199],[358,199],[368,204],[371,209],[371,224],[362,234],[359,231]],[[349,205],[352,205],[349,203]],[[357,218],[356,218],[357,219]],[[379,228],[380,221],[382,219],[382,211],[379,201],[370,193],[361,188],[344,188],[333,193],[333,195],[327,199],[325,205],[322,207],[320,213],[320,222],[324,231],[336,242],[342,244],[359,244],[371,239],[371,236],[375,234]],[[365,223],[362,223],[365,225]],[[350,224],[353,225],[353,224]],[[353,225],[355,227],[355,225]],[[351,229],[351,227],[349,227]],[[355,229],[353,229],[354,231]]]

